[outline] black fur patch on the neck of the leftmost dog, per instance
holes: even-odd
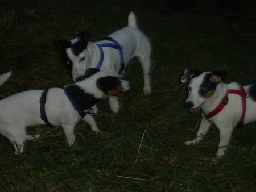
[[[100,99],[95,98],[92,94],[85,93],[84,90],[77,85],[68,85],[65,89],[84,110],[92,108],[100,101]]]

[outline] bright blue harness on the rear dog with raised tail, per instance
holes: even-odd
[[[114,49],[118,49],[119,54],[120,54],[120,70],[118,72],[118,74],[122,74],[123,70],[125,69],[125,61],[123,60],[123,48],[121,45],[119,45],[119,43],[117,43],[117,41],[115,41],[114,39],[112,39],[111,37],[106,37],[103,40],[109,40],[112,41],[113,43],[102,43],[102,44],[97,44],[98,47],[100,48],[101,51],[101,57],[100,57],[100,61],[98,61],[98,65],[97,65],[97,69],[101,69],[103,60],[104,60],[104,52],[102,50],[102,47],[111,47]]]

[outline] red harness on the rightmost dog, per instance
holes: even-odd
[[[218,106],[212,112],[209,112],[208,114],[205,114],[205,112],[203,110],[202,110],[202,112],[204,114],[205,119],[207,119],[210,123],[212,123],[209,118],[217,115],[228,104],[228,101],[229,101],[228,94],[229,93],[238,94],[242,98],[243,111],[242,111],[242,116],[238,123],[238,127],[241,127],[243,125],[243,122],[245,119],[246,97],[247,97],[247,92],[243,89],[242,86],[241,86],[241,90],[229,89],[227,91],[226,95],[224,96],[224,98],[222,99],[222,101],[220,102],[220,104],[218,104]]]

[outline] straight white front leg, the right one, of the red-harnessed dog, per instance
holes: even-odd
[[[229,128],[219,128],[220,130],[220,143],[218,144],[218,151],[216,154],[216,158],[220,158],[224,155],[226,148],[228,148],[228,144],[230,141],[230,137],[232,135],[232,127]]]

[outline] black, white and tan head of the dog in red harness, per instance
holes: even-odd
[[[186,69],[181,82],[188,82],[188,98],[185,101],[185,107],[189,112],[199,111],[201,105],[214,95],[217,85],[227,77],[228,74],[222,71],[200,72],[196,69]]]

